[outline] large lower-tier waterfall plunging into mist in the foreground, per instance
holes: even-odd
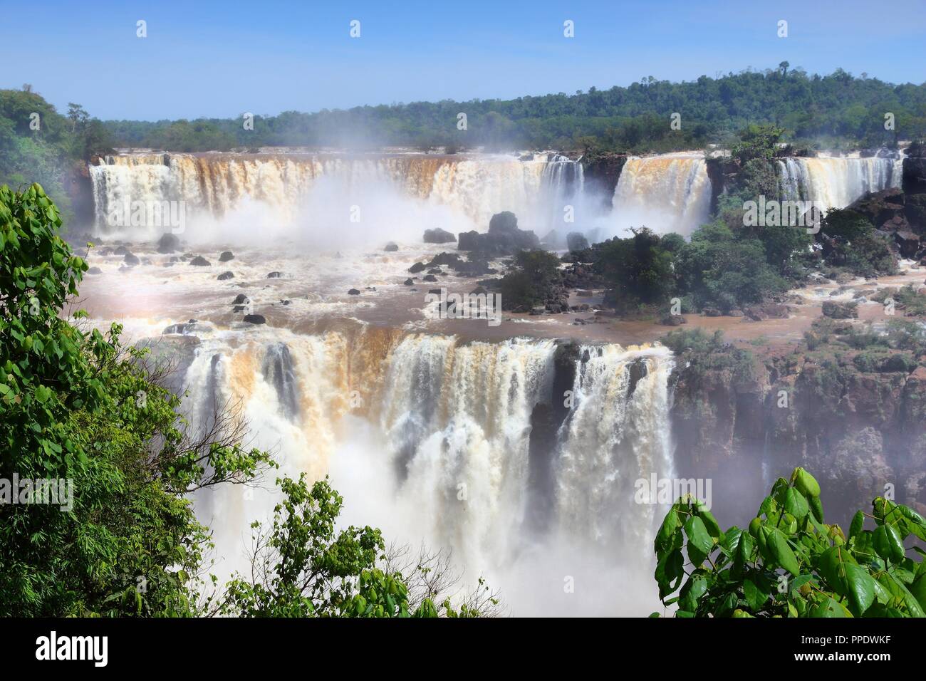
[[[189,418],[196,422],[214,402],[241,404],[254,444],[273,449],[282,472],[319,479],[348,455],[357,423],[365,424],[368,463],[354,470],[378,473],[353,485],[344,473],[334,480],[348,504],[368,504],[373,517],[364,522],[403,518],[415,543],[453,549],[470,576],[506,574],[525,549],[554,537],[617,566],[651,567],[649,545],[664,510],[634,503],[633,486],[651,473],[672,475],[668,349],[582,346],[569,394],[557,396],[553,340],[279,329],[201,336],[184,382]],[[355,401],[358,394],[366,397]],[[565,420],[543,443],[554,477],[543,499],[552,523],[538,534],[528,517],[537,493],[532,413],[564,398],[571,400]],[[229,570],[242,568],[247,527],[266,519],[273,503],[268,490],[197,497]]]

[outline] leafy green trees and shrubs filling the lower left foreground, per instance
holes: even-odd
[[[498,612],[482,584],[459,610],[456,579],[394,569],[379,530],[335,533],[342,499],[325,482],[280,481],[285,496],[252,581],[205,594],[208,528],[190,493],[250,484],[273,466],[243,445],[246,428],[219,407],[191,428],[148,351],[121,328],[88,331],[60,316],[87,265],[56,234],[39,184],[0,186],[0,489],[61,480],[67,503],[0,502],[0,616],[479,616]],[[81,311],[73,314],[80,321]],[[259,571],[259,575],[257,576]],[[426,585],[422,591],[421,584]],[[442,601],[443,599],[443,601]],[[434,602],[442,602],[440,608]]]

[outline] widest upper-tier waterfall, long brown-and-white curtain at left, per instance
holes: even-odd
[[[126,202],[145,207],[183,202],[194,223],[228,220],[259,206],[259,211],[245,212],[244,220],[269,213],[272,221],[293,231],[306,215],[318,212],[316,204],[343,204],[340,215],[346,218],[355,206],[377,209],[370,195],[384,193],[419,207],[449,209],[458,223],[447,226],[458,231],[484,232],[494,213],[512,210],[524,227],[542,232],[562,223],[564,205],[575,203],[583,191],[581,164],[554,154],[525,160],[501,155],[131,154],[103,158],[90,174],[101,234],[117,231],[110,216]],[[157,226],[141,235],[159,235],[164,230]],[[417,229],[419,238],[424,227]]]

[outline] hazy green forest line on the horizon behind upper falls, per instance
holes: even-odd
[[[467,116],[458,130],[458,114]],[[681,127],[669,123],[681,115]],[[885,114],[893,114],[893,130]],[[777,69],[745,70],[690,82],[649,76],[627,87],[595,87],[573,95],[514,99],[442,100],[314,113],[284,111],[197,120],[108,120],[115,145],[195,152],[275,145],[370,148],[412,146],[449,151],[484,146],[570,151],[666,152],[726,145],[750,123],[789,131],[788,141],[827,148],[894,146],[926,136],[926,83],[895,85],[843,69],[807,74],[782,62]]]

